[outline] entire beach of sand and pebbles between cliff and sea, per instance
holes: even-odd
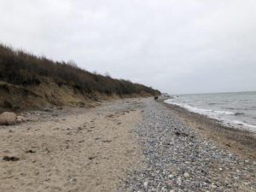
[[[256,189],[252,133],[152,97],[23,115],[0,127],[0,191]]]

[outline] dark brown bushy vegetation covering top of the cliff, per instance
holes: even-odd
[[[44,56],[32,55],[0,44],[0,81],[26,87],[41,84],[45,79],[51,79],[59,86],[72,86],[83,95],[94,92],[119,96],[160,94],[159,90],[143,84],[90,73],[72,62],[51,61]]]

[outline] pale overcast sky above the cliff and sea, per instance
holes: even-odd
[[[0,0],[0,42],[169,93],[256,90],[255,0]]]

